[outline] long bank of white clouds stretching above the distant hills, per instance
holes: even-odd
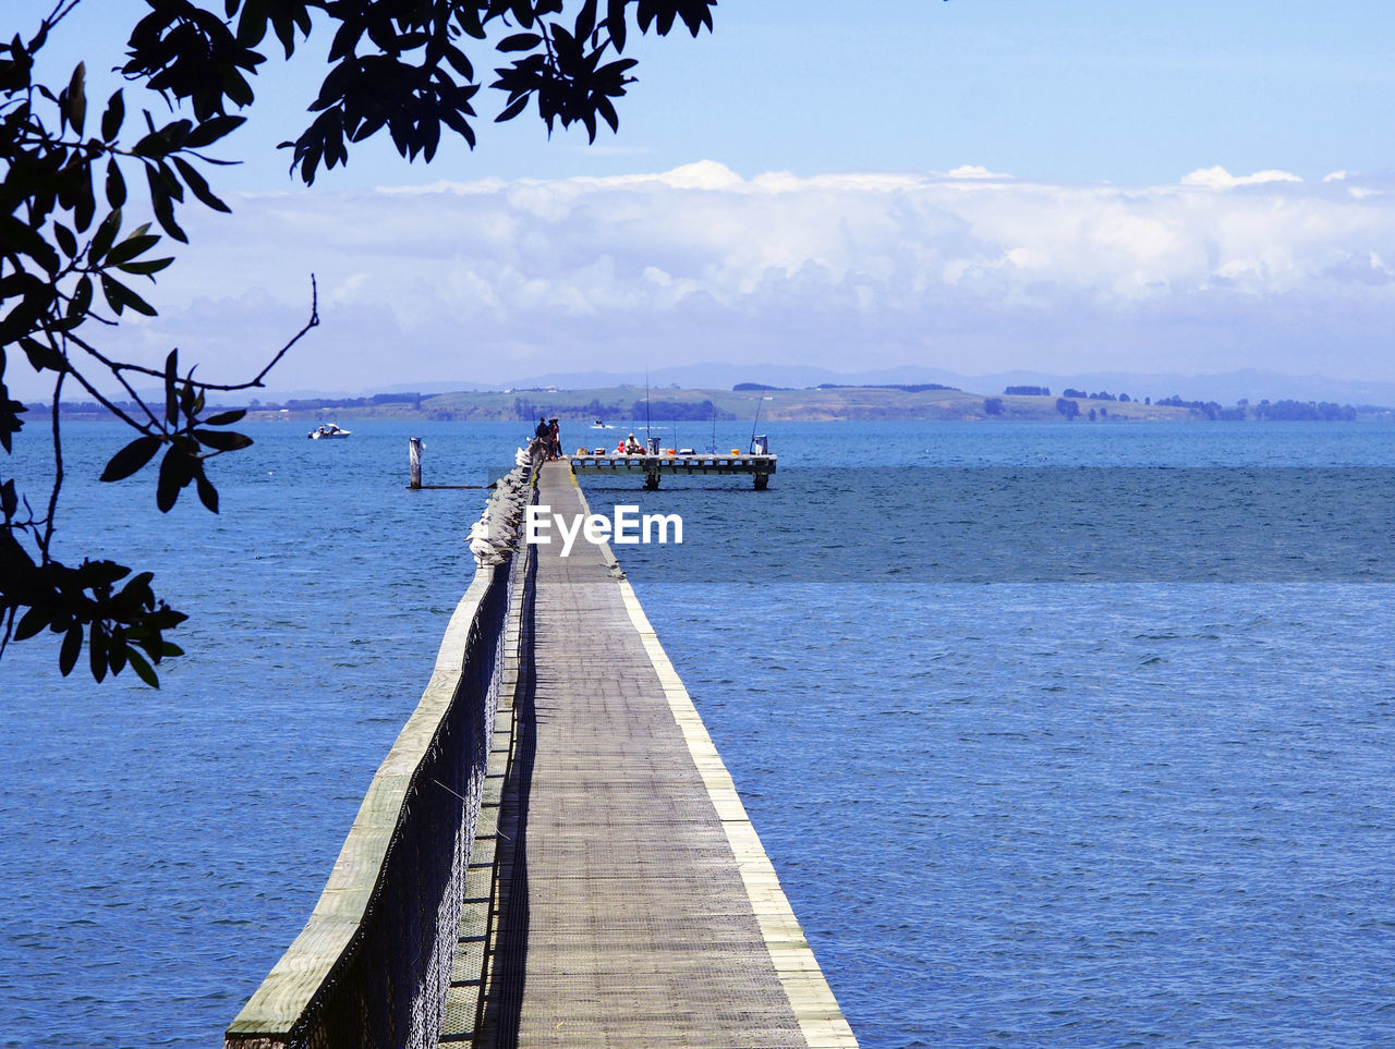
[[[114,339],[236,378],[303,324],[314,272],[324,325],[278,368],[282,389],[737,357],[1395,378],[1389,188],[1221,169],[1131,190],[742,179],[700,162],[246,195],[233,216],[191,213],[193,246],[151,296],[162,317]]]

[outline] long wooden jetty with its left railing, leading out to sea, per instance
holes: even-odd
[[[589,512],[566,462],[544,465],[534,491],[552,513]],[[857,1046],[610,548],[578,543],[564,558],[557,543],[534,545],[480,573],[423,703],[494,696],[476,746],[485,767],[423,724],[379,771],[402,802],[398,834],[432,799],[473,797],[476,816],[459,816],[473,844],[455,838],[439,891],[399,898],[393,862],[435,863],[423,844],[382,847],[392,820],[371,806],[375,847],[360,852],[350,834],[333,898],[317,907],[332,936],[312,919],[227,1046]],[[487,684],[476,664],[495,650]],[[463,771],[438,778],[453,766]],[[445,822],[417,838],[449,852]]]

